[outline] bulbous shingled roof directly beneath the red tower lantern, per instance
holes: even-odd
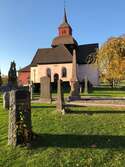
[[[58,45],[78,45],[77,41],[71,36],[71,35],[65,35],[65,36],[58,36],[54,38],[52,41],[52,46],[58,46]]]

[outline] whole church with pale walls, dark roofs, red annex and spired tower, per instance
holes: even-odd
[[[50,48],[39,48],[31,64],[18,71],[18,80],[22,85],[28,85],[29,80],[34,85],[40,85],[40,78],[49,76],[51,83],[60,78],[69,83],[72,76],[73,50],[76,50],[77,77],[82,82],[85,76],[93,86],[99,84],[99,72],[95,65],[95,55],[98,43],[79,45],[72,35],[66,10],[64,18],[58,27],[58,35],[52,40]]]

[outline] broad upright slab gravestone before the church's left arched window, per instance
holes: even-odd
[[[40,79],[40,102],[51,103],[50,77],[45,76]]]

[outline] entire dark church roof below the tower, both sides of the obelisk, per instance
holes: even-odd
[[[88,57],[92,55],[92,58],[94,58],[97,49],[97,43],[78,46],[77,63],[87,64]],[[59,45],[55,48],[38,49],[31,62],[31,66],[37,66],[37,64],[59,63],[72,63],[72,54],[64,45]]]

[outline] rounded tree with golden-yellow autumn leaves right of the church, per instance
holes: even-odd
[[[98,50],[96,61],[101,77],[112,87],[125,79],[125,37],[108,39]]]

